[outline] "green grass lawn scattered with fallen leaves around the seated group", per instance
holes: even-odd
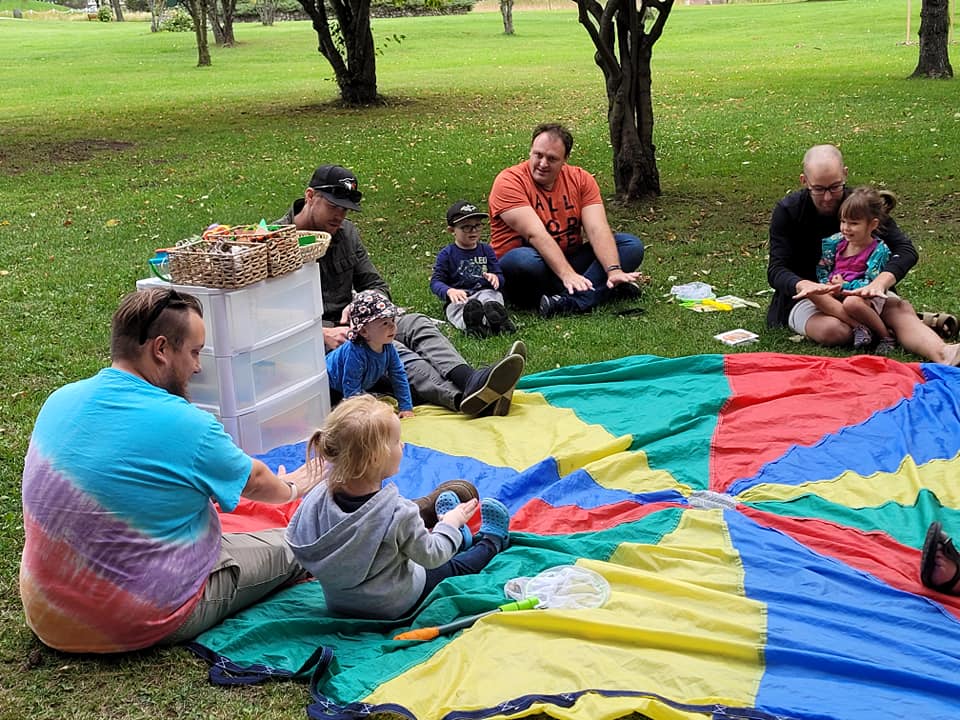
[[[354,219],[375,262],[399,303],[434,314],[446,207],[485,201],[537,122],[568,124],[571,162],[612,194],[602,78],[575,12],[520,10],[514,22],[507,37],[497,13],[375,21],[378,42],[404,36],[378,57],[389,102],[344,110],[308,23],[240,25],[239,46],[199,69],[188,33],[0,21],[0,718],[302,717],[304,688],[214,689],[182,650],[103,659],[39,645],[17,594],[32,422],[53,389],[108,362],[110,313],[154,248],[212,222],[279,217],[318,164],[356,171]],[[722,352],[712,336],[734,327],[761,333],[748,350],[831,352],[766,331],[763,310],[697,314],[666,299],[704,280],[765,308],[769,213],[818,142],[841,145],[853,184],[898,193],[921,251],[901,292],[919,309],[960,310],[960,92],[905,79],[918,49],[901,44],[904,25],[896,0],[677,6],[654,52],[663,195],[608,208],[615,229],[648,244],[646,313],[519,314],[530,371]],[[509,342],[454,339],[478,364]]]

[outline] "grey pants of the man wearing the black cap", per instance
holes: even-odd
[[[401,315],[394,345],[407,371],[414,402],[457,410],[456,397],[461,390],[447,380],[447,375],[467,361],[433,320],[420,313]]]

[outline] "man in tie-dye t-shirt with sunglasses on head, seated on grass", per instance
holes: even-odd
[[[185,399],[202,314],[172,289],[131,293],[113,316],[111,366],[40,410],[23,471],[20,595],[50,647],[188,640],[303,574],[282,530],[221,535],[213,501],[286,503],[311,481],[305,469],[274,475]]]

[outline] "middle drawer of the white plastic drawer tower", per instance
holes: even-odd
[[[190,400],[220,416],[240,415],[273,395],[326,372],[323,325],[232,357],[200,355],[203,370],[190,380]]]

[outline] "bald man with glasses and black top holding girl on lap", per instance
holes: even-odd
[[[803,156],[803,186],[777,203],[770,219],[767,280],[774,289],[767,313],[769,327],[788,326],[819,345],[848,345],[853,331],[843,321],[820,312],[810,297],[836,292],[817,281],[823,239],[840,230],[840,205],[849,194],[847,167],[833,145],[815,145]],[[913,306],[892,292],[917,263],[910,238],[888,219],[877,235],[890,248],[890,260],[868,285],[849,294],[886,297],[881,318],[905,350],[932,362],[957,365],[960,346],[947,345],[917,317]]]

